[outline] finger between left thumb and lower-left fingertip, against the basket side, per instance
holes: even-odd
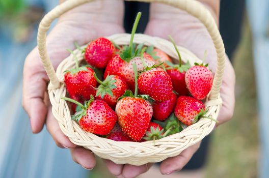
[[[47,127],[48,132],[52,136],[53,140],[56,142],[57,146],[59,146],[61,148],[65,147],[68,149],[72,149],[76,146],[61,131],[57,120],[52,115],[51,106],[49,106],[49,108],[48,108],[46,127]]]

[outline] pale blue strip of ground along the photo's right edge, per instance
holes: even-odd
[[[261,157],[259,177],[269,176],[269,1],[248,0],[247,9],[253,32],[254,64],[258,89]]]

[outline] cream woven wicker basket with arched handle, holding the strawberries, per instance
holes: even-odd
[[[44,68],[50,79],[48,93],[52,104],[52,113],[57,119],[63,133],[76,145],[84,146],[97,156],[112,160],[117,164],[142,165],[149,162],[159,162],[166,158],[179,155],[187,147],[199,142],[208,135],[215,126],[215,122],[202,118],[198,123],[187,127],[182,132],[155,141],[146,142],[117,142],[114,140],[98,137],[92,133],[83,131],[79,125],[71,120],[70,111],[66,101],[61,97],[66,96],[66,88],[63,82],[64,71],[74,68],[73,56],[67,57],[58,67],[57,72],[53,69],[46,50],[46,32],[53,20],[60,15],[79,5],[91,2],[92,0],[68,0],[57,6],[42,19],[38,29],[38,49]],[[130,1],[130,0],[128,0]],[[218,27],[211,14],[199,2],[194,0],[139,0],[141,2],[158,2],[180,8],[197,17],[207,28],[214,47],[217,51],[217,69],[210,95],[205,103],[208,108],[207,116],[217,118],[222,104],[220,98],[220,86],[225,66],[225,49]],[[129,34],[116,34],[108,39],[114,40],[119,45],[128,44]],[[168,55],[177,59],[177,53],[171,42],[157,37],[137,34],[134,43],[145,43],[162,49]],[[191,65],[201,62],[191,51],[178,46],[182,59],[188,59]],[[75,50],[79,62],[83,60],[83,54]]]

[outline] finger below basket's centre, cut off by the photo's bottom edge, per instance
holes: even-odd
[[[122,175],[125,178],[137,177],[138,175],[147,172],[152,166],[152,163],[144,164],[142,166],[133,166],[130,164],[125,164],[122,170]]]

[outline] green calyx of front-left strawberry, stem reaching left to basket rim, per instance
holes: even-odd
[[[66,97],[61,97],[61,99],[75,103],[77,106],[79,106],[81,108],[80,111],[77,111],[74,115],[71,116],[72,120],[79,122],[79,120],[87,114],[87,108],[90,106],[90,104],[93,102],[94,97],[93,95],[91,95],[91,99],[89,101],[86,101],[85,104],[81,104],[71,98],[66,98]]]

